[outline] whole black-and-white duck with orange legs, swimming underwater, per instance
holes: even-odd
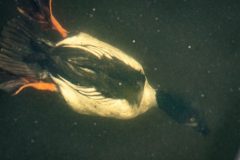
[[[57,92],[78,113],[116,119],[159,106],[177,122],[208,133],[194,109],[155,91],[129,54],[87,33],[69,36],[52,14],[52,0],[16,2],[21,14],[1,33],[1,90],[13,95],[28,87]],[[57,31],[60,40],[46,38],[49,30]]]

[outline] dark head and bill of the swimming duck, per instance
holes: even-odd
[[[203,116],[183,98],[162,90],[158,90],[156,96],[159,108],[176,122],[194,128],[202,135],[209,133]]]

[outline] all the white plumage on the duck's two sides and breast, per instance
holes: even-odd
[[[66,38],[56,46],[69,48],[79,48],[89,54],[101,59],[103,56],[109,59],[117,58],[127,64],[129,67],[144,73],[141,64],[123,51],[102,42],[86,33],[80,33],[76,36]],[[72,59],[74,61],[74,59]],[[80,68],[85,70],[84,68]],[[91,72],[91,70],[85,70]],[[59,76],[52,76],[53,81],[58,85],[60,92],[69,106],[81,114],[99,115],[103,117],[112,117],[117,119],[130,119],[146,112],[149,108],[156,106],[155,90],[145,82],[143,97],[140,100],[140,106],[131,106],[125,99],[112,99],[104,97],[94,87],[85,87],[72,84],[68,80]]]

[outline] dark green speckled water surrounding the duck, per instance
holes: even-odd
[[[0,1],[0,27],[16,16]],[[240,146],[240,2],[56,0],[56,17],[136,57],[153,86],[206,117],[201,136],[157,108],[129,121],[79,115],[56,94],[0,94],[1,160],[233,160]],[[135,43],[133,43],[135,42]]]

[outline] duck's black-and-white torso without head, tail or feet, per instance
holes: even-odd
[[[156,106],[143,67],[123,51],[80,33],[57,43],[53,52],[61,73],[51,78],[75,111],[129,119]]]

